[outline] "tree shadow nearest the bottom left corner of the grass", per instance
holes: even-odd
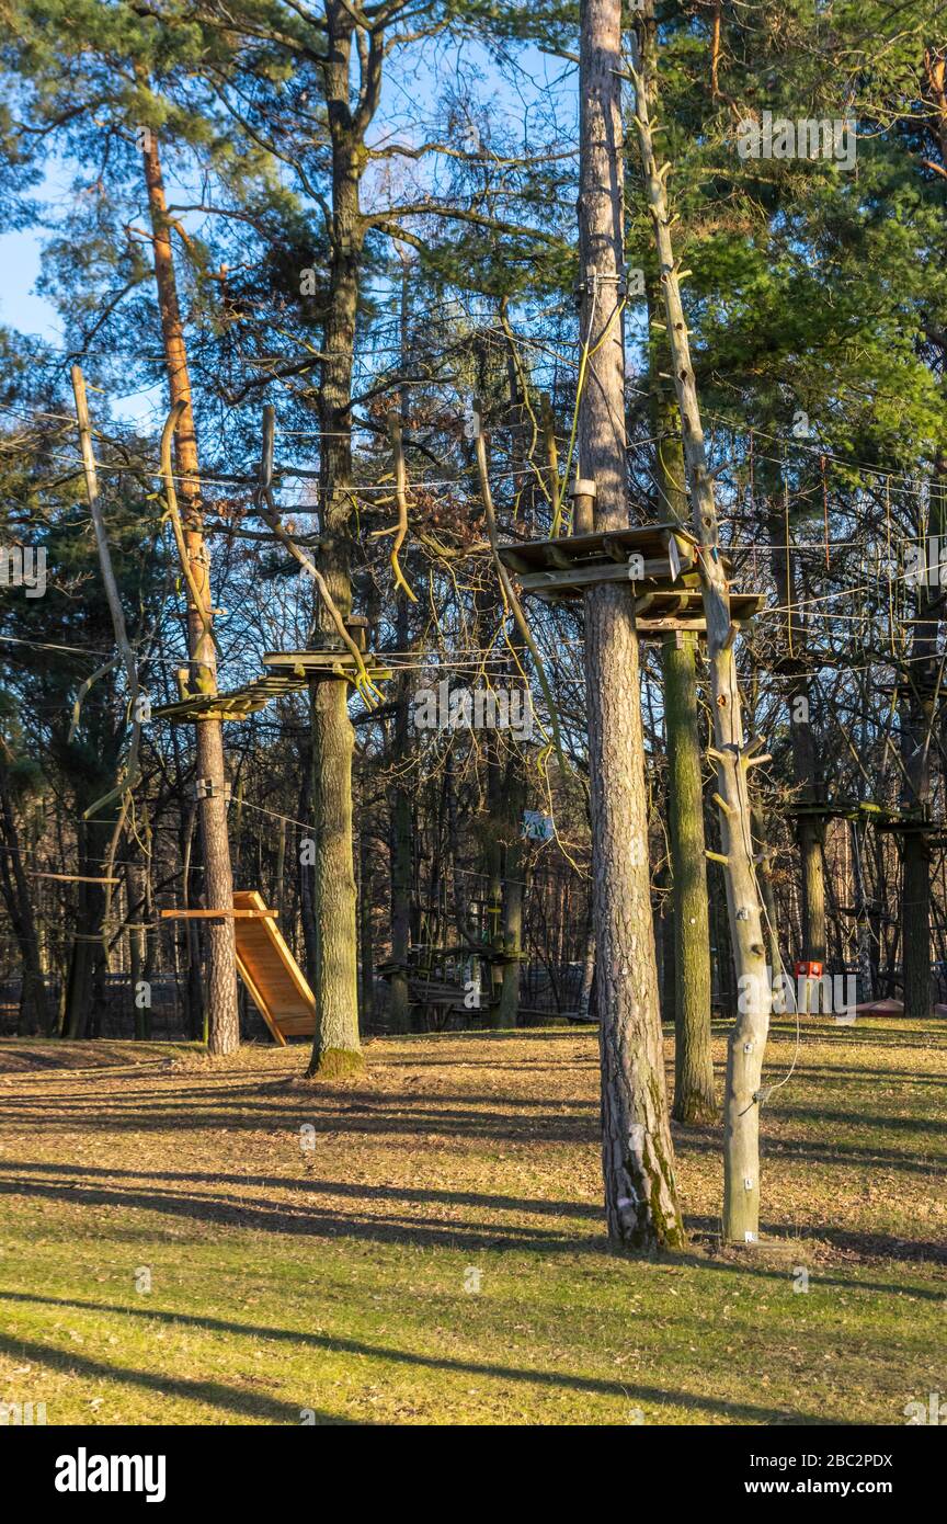
[[[82,1301],[55,1301],[53,1298],[44,1297],[23,1297],[11,1292],[0,1292],[0,1300],[17,1300],[17,1301],[50,1301],[53,1306],[79,1309],[87,1303]],[[93,1309],[93,1311],[110,1311],[108,1308]],[[116,1312],[125,1311],[116,1308]],[[157,1314],[160,1318],[161,1314]],[[174,1318],[174,1321],[187,1321]],[[190,1320],[199,1321],[199,1320]],[[268,1398],[259,1391],[241,1391],[239,1387],[228,1387],[221,1381],[184,1381],[181,1376],[155,1375],[151,1370],[128,1370],[123,1366],[108,1366],[99,1359],[90,1359],[87,1355],[76,1355],[72,1349],[56,1349],[55,1346],[40,1344],[33,1340],[21,1340],[12,1334],[0,1334],[0,1350],[17,1359],[29,1359],[38,1366],[50,1366],[53,1370],[59,1370],[67,1376],[81,1376],[87,1381],[119,1381],[125,1385],[142,1387],[145,1391],[154,1391],[158,1398],[186,1398],[189,1402],[206,1402],[212,1408],[224,1408],[228,1413],[239,1413],[244,1417],[256,1419],[257,1423],[301,1423],[303,1410],[291,1402],[279,1402],[276,1398]],[[340,1417],[332,1413],[320,1413],[309,1408],[308,1413],[315,1413],[315,1423],[353,1423],[353,1419]],[[155,1423],[161,1423],[160,1414],[155,1414]]]

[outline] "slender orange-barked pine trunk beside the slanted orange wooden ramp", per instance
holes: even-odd
[[[164,180],[154,133],[148,133],[145,137],[143,158],[167,386],[172,407],[175,404],[183,407],[175,437],[175,457],[181,477],[178,497],[190,568],[187,597],[190,689],[199,693],[216,693],[216,649],[210,634],[210,553],[204,539],[198,442],[190,407],[187,349],[178,303]],[[209,910],[233,910],[222,727],[216,719],[202,719],[195,725],[195,732],[196,774],[202,792],[198,812],[204,847],[204,904]],[[212,1053],[233,1053],[241,1044],[233,919],[207,920],[206,937],[207,1045]]]

